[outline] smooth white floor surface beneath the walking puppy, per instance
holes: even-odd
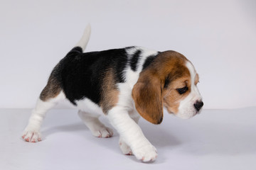
[[[256,107],[204,110],[190,120],[165,113],[161,125],[140,120],[159,153],[148,164],[121,153],[116,131],[114,137],[93,137],[73,109],[49,111],[43,141],[24,142],[21,133],[30,112],[0,109],[1,170],[256,169]],[[106,118],[101,120],[110,126]]]

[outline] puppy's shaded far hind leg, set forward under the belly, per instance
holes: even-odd
[[[112,137],[113,130],[100,122],[100,115],[85,113],[84,111],[78,111],[78,115],[95,137]]]

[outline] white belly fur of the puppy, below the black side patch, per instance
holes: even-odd
[[[103,115],[102,108],[100,108],[97,104],[90,101],[88,98],[83,98],[82,100],[75,101],[77,103],[77,108],[85,113],[92,113],[96,115]]]

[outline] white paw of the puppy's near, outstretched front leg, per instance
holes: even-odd
[[[138,147],[137,149],[132,149],[132,151],[135,157],[142,162],[152,162],[156,160],[157,157],[156,148],[150,144]]]

